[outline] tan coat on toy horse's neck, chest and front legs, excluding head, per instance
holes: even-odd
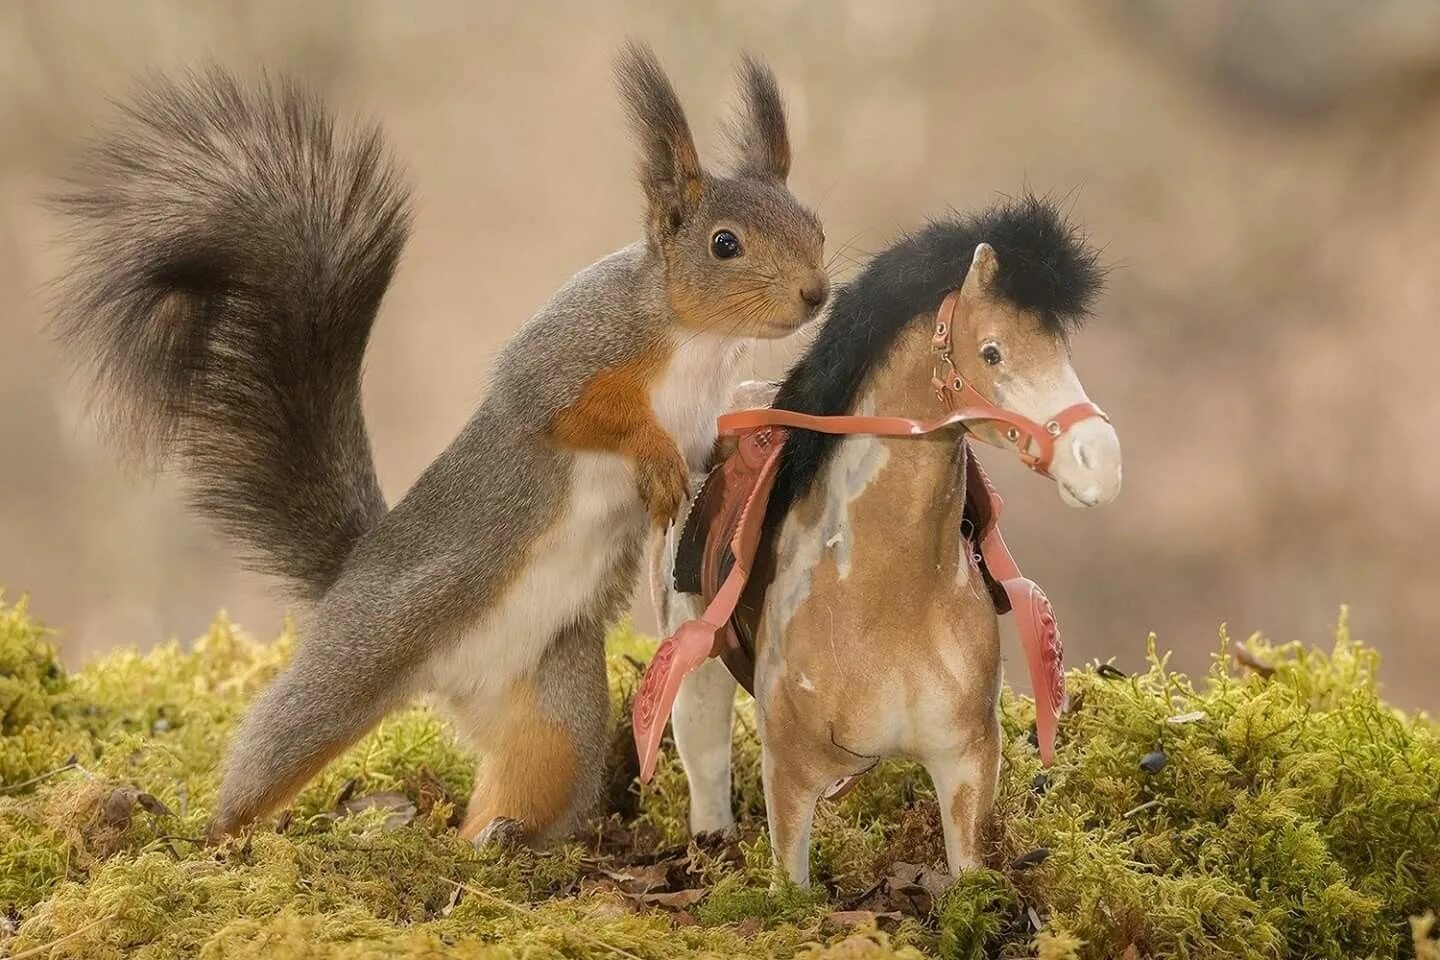
[[[917,322],[865,403],[930,413],[932,360],[929,330]],[[999,636],[989,593],[962,553],[960,448],[950,435],[845,443],[884,449],[883,466],[847,507],[848,569],[825,550],[796,609],[780,609],[788,590],[768,593],[757,632],[772,842],[791,877],[805,877],[821,790],[900,754],[930,767],[937,786],[953,784],[953,797],[942,799],[946,835],[956,865],[973,865],[998,769]],[[835,484],[818,484],[780,540],[824,540],[825,501],[835,497]]]

